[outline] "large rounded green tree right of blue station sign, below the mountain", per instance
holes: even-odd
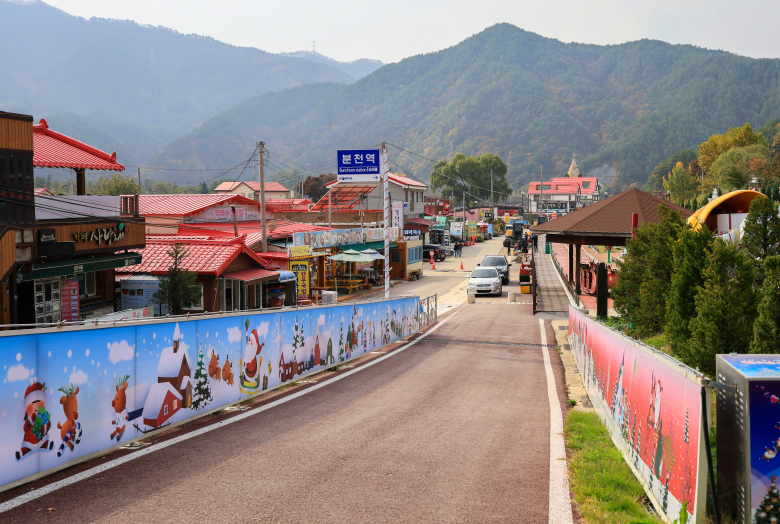
[[[449,161],[442,160],[433,166],[431,189],[441,189],[443,198],[462,202],[463,192],[471,197],[490,202],[491,173],[493,179],[493,203],[507,199],[512,188],[506,180],[507,165],[501,157],[485,153],[478,157],[458,153]]]

